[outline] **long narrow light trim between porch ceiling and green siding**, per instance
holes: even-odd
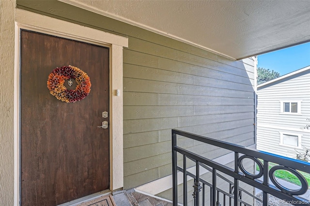
[[[225,55],[221,52],[218,52],[218,51],[215,51],[213,49],[210,49],[208,47],[205,47],[205,46],[202,46],[200,44],[196,44],[196,43],[193,43],[191,41],[188,41],[186,39],[183,39],[183,38],[180,38],[180,37],[177,37],[175,35],[172,35],[172,34],[169,34],[167,32],[164,32],[164,31],[161,31],[159,29],[155,29],[155,28],[152,28],[152,27],[149,27],[147,25],[144,25],[144,24],[140,24],[138,22],[135,22],[135,21],[132,21],[130,19],[127,19],[127,18],[124,18],[123,16],[119,16],[119,15],[115,15],[115,14],[112,14],[112,13],[109,13],[109,12],[106,12],[106,11],[102,11],[100,9],[97,9],[93,6],[90,6],[90,5],[87,5],[87,4],[84,4],[82,2],[79,2],[79,1],[76,1],[76,0],[58,0],[58,1],[62,1],[64,3],[67,3],[67,4],[70,4],[70,5],[73,5],[73,6],[76,6],[76,7],[79,7],[81,9],[85,9],[85,10],[88,10],[88,11],[91,11],[93,13],[96,13],[96,14],[99,14],[99,15],[104,15],[104,16],[107,16],[109,18],[113,18],[113,19],[116,19],[116,20],[119,20],[119,21],[122,21],[124,23],[127,23],[127,24],[130,24],[130,25],[133,25],[133,26],[136,26],[136,27],[139,27],[139,28],[142,28],[142,29],[146,29],[146,30],[149,30],[149,31],[152,31],[154,33],[157,33],[157,34],[160,34],[160,35],[163,35],[163,36],[166,36],[166,37],[169,37],[171,39],[174,39],[174,40],[177,40],[177,41],[180,41],[180,42],[183,42],[183,43],[186,43],[186,44],[190,44],[192,46],[195,46],[195,47],[198,47],[198,48],[201,48],[203,50],[206,50],[206,51],[209,51],[209,52],[212,52],[212,53],[215,53],[217,55],[220,55],[222,57],[226,57],[228,59],[232,59],[232,60],[237,60],[231,56],[228,56],[228,55]]]

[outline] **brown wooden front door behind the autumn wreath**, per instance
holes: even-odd
[[[102,115],[109,112],[109,48],[22,30],[20,49],[21,205],[55,206],[109,189],[109,129],[98,127],[109,121]],[[76,103],[47,88],[48,75],[67,65],[92,84]]]

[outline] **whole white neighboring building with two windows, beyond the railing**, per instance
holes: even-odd
[[[310,66],[257,86],[257,149],[296,158],[310,148],[309,79]]]

